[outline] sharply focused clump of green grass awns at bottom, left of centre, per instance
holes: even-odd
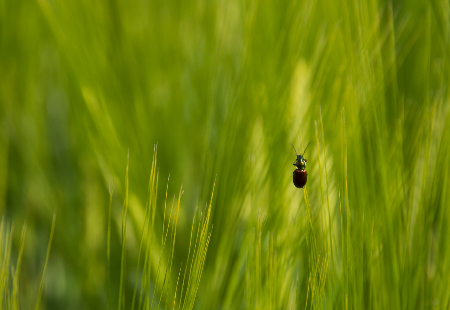
[[[129,155],[128,155],[129,159]],[[128,166],[129,162],[127,162],[126,165],[126,177],[125,177],[125,186],[126,186],[126,194],[125,194],[125,200],[123,203],[122,208],[122,230],[121,230],[121,243],[122,243],[122,250],[121,250],[121,271],[120,271],[120,281],[119,281],[119,294],[118,294],[118,303],[117,307],[118,309],[126,309],[126,302],[125,302],[125,292],[123,290],[125,281],[124,281],[124,273],[126,272],[126,218],[127,218],[127,212],[128,212]],[[156,180],[155,180],[156,176]],[[132,301],[130,309],[161,309],[161,306],[164,305],[164,309],[167,309],[167,307],[172,307],[172,309],[175,309],[176,305],[176,297],[177,297],[177,291],[178,291],[178,284],[180,280],[181,270],[184,267],[184,273],[181,284],[181,288],[178,294],[178,308],[177,309],[183,309],[183,310],[191,310],[193,309],[194,301],[197,295],[198,291],[198,285],[200,283],[201,275],[202,275],[202,269],[206,258],[206,252],[209,245],[209,241],[211,239],[211,229],[209,228],[209,221],[210,221],[210,215],[211,215],[211,206],[212,206],[212,193],[211,193],[211,200],[209,202],[209,205],[203,212],[200,212],[200,216],[198,218],[198,223],[196,223],[195,215],[192,221],[192,228],[190,231],[190,238],[189,238],[189,251],[188,256],[185,260],[185,265],[180,266],[180,271],[178,273],[178,277],[176,278],[175,283],[175,292],[173,292],[173,297],[171,296],[171,299],[169,299],[169,292],[170,290],[170,284],[171,284],[171,273],[172,273],[172,262],[173,262],[173,256],[175,251],[175,237],[177,232],[177,223],[178,223],[178,216],[180,213],[180,200],[181,195],[183,195],[183,186],[180,187],[180,192],[178,194],[178,201],[176,203],[175,209],[174,209],[174,202],[175,202],[175,196],[173,197],[170,213],[168,213],[167,208],[167,190],[169,187],[169,179],[167,180],[167,187],[166,187],[166,197],[164,199],[164,215],[163,215],[163,221],[162,221],[162,239],[161,239],[161,249],[159,251],[159,258],[156,266],[152,266],[152,259],[155,256],[155,254],[152,253],[152,250],[154,251],[154,224],[155,224],[155,212],[157,208],[157,189],[158,189],[158,182],[159,182],[159,169],[157,169],[157,145],[154,146],[153,149],[153,160],[152,160],[152,168],[150,172],[150,179],[148,182],[148,194],[147,194],[147,203],[145,204],[145,215],[144,215],[144,224],[142,227],[142,232],[140,234],[140,243],[139,243],[139,252],[137,257],[137,267],[136,267],[136,275],[135,275],[135,284],[132,294]],[[214,186],[212,191],[214,191]],[[110,196],[112,197],[112,190],[110,193]],[[111,198],[112,199],[112,198]],[[110,207],[111,207],[111,201],[110,201]],[[111,213],[111,211],[109,211]],[[168,215],[168,218],[166,218],[166,215]],[[108,217],[108,235],[109,230],[111,226],[111,217]],[[165,227],[167,221],[167,226]],[[193,239],[193,233],[194,231],[194,224],[197,224],[197,232],[195,234],[195,237]],[[169,234],[169,229],[171,231],[170,233],[170,240],[168,243],[169,250],[166,256],[166,264],[165,267],[163,266],[163,260],[165,259],[165,252],[166,249],[166,243],[167,243],[167,236]],[[107,246],[107,262],[108,262],[108,269],[110,268],[110,244],[109,244],[109,238],[108,238],[108,246]],[[191,247],[193,246],[192,250],[192,256],[191,256]],[[167,252],[167,251],[166,251]],[[141,255],[144,259],[143,264],[139,264],[141,261]],[[187,272],[189,269],[189,272]],[[152,278],[152,270],[153,273],[156,272],[156,275],[153,275]],[[140,279],[139,279],[139,274]],[[187,275],[187,278],[186,278]],[[184,288],[186,280],[186,288]],[[111,289],[111,279],[109,276],[109,270],[108,270],[108,308],[111,305],[110,302],[110,292]],[[152,285],[153,284],[153,285]],[[160,287],[161,285],[161,287]],[[153,289],[152,289],[153,286]],[[173,288],[172,288],[173,291]],[[164,296],[164,292],[166,293]],[[163,301],[164,300],[164,301]],[[173,300],[173,301],[171,301]],[[163,304],[162,304],[163,301]],[[181,303],[181,301],[183,301]],[[170,308],[169,308],[170,309]]]

